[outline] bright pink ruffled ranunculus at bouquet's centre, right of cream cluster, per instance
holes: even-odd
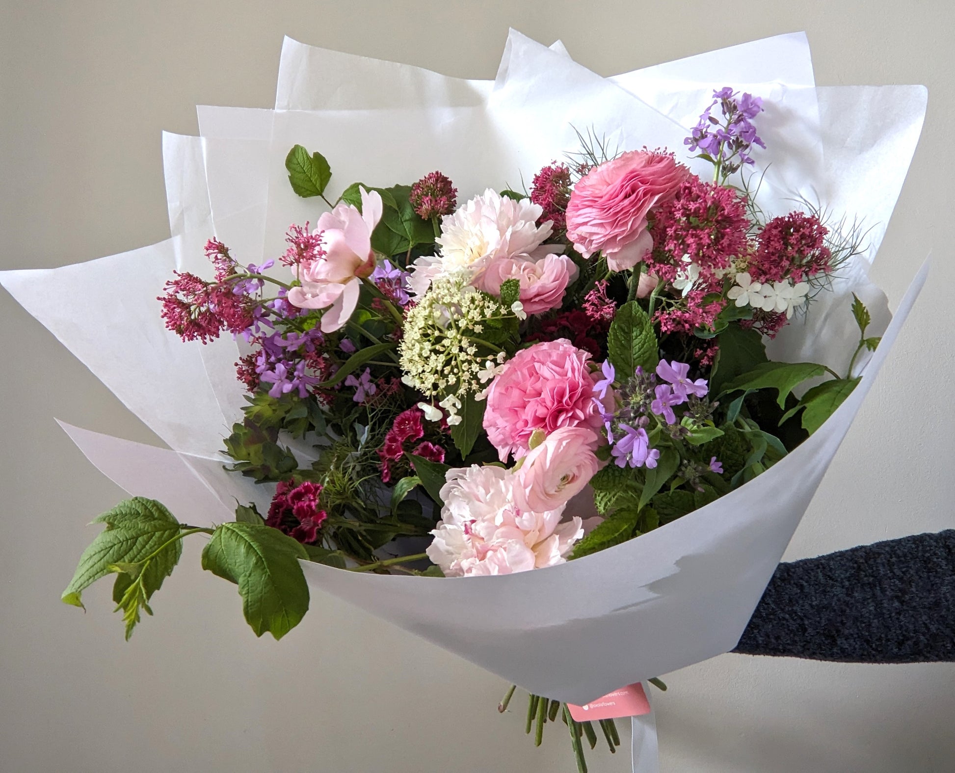
[[[603,426],[594,400],[600,374],[590,373],[589,360],[588,352],[558,338],[523,349],[504,364],[487,390],[484,410],[484,429],[501,462],[527,451],[534,430],[549,435],[561,427],[596,432]],[[604,404],[613,405],[610,391]]]

